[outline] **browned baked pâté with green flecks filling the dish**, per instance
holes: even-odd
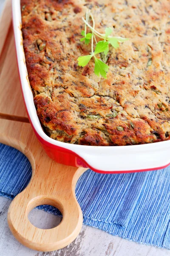
[[[107,79],[77,58],[90,9],[95,28],[129,38],[110,47]],[[170,140],[170,1],[21,0],[23,47],[37,115],[54,140],[133,145]],[[100,55],[98,56],[101,57]]]

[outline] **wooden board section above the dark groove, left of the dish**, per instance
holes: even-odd
[[[11,0],[6,0],[0,17],[0,113],[27,118],[17,70]]]

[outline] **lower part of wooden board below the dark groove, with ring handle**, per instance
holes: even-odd
[[[32,166],[28,186],[14,198],[8,210],[9,228],[15,238],[40,251],[59,250],[70,244],[82,228],[82,211],[75,187],[87,169],[65,166],[48,157],[29,123],[3,119],[0,143],[23,152]],[[57,227],[44,230],[28,220],[31,209],[41,204],[50,204],[62,212],[63,218]]]

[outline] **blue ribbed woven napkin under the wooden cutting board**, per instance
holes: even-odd
[[[28,184],[31,165],[19,151],[0,144],[0,195],[13,199]],[[170,249],[170,167],[152,172],[98,174],[78,180],[84,224],[114,236]],[[55,215],[51,206],[40,206]]]

